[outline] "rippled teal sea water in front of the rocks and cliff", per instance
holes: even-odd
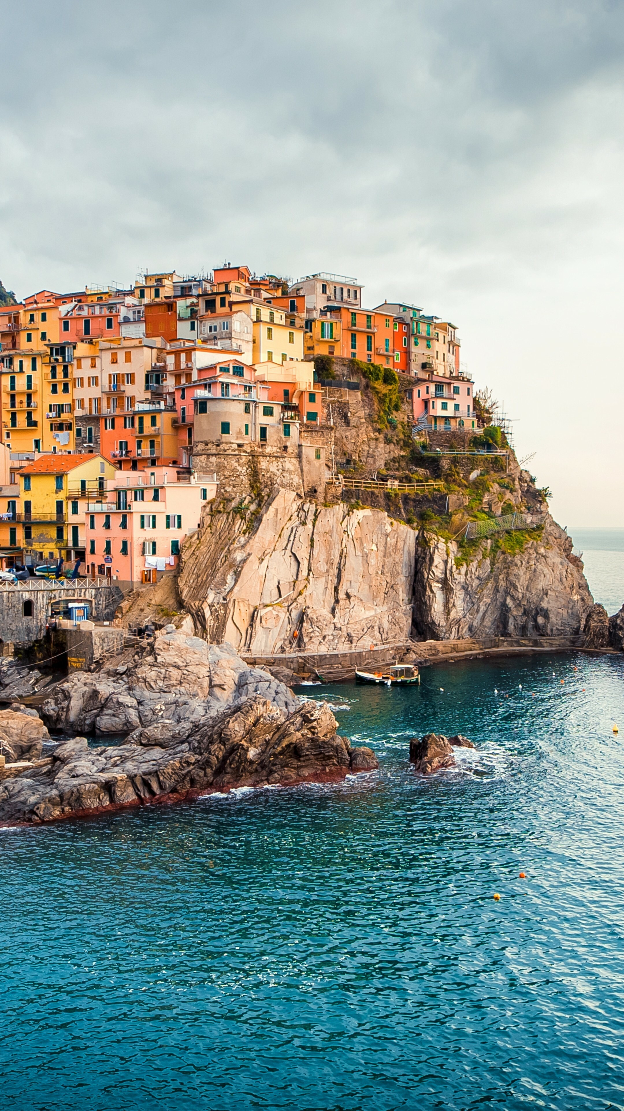
[[[623,667],[309,688],[379,773],[4,831],[1,1107],[623,1108]]]

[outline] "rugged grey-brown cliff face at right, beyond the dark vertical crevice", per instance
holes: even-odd
[[[490,557],[485,540],[469,562],[455,562],[459,547],[444,540],[419,544],[414,590],[417,634],[463,637],[575,635],[593,599],[572,540],[546,518],[541,540],[523,551]]]

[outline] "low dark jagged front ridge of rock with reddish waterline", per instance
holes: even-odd
[[[338,782],[371,770],[371,750],[351,749],[325,703],[294,712],[253,697],[201,725],[147,727],[125,744],[89,748],[83,737],[0,782],[0,823],[40,823],[122,807],[191,799],[208,791],[263,784]]]

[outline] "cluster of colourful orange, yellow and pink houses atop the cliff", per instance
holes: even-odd
[[[414,429],[476,427],[455,324],[366,308],[341,274],[290,283],[227,263],[41,290],[0,306],[0,344],[2,570],[80,560],[93,579],[155,581],[218,494],[220,453],[294,457],[303,490],[324,489],[340,463],[323,432],[330,360],[344,380],[351,360],[396,371]]]

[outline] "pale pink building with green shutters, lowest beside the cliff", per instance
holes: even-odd
[[[154,582],[173,570],[182,541],[217,494],[214,476],[180,479],[174,467],[118,471],[85,507],[85,562],[92,575]]]

